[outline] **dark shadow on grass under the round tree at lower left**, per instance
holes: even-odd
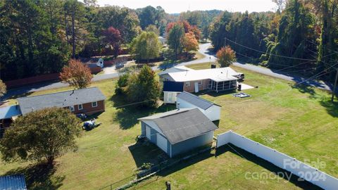
[[[5,175],[25,175],[27,189],[58,189],[65,177],[54,176],[55,172],[56,166],[38,163],[9,170]]]

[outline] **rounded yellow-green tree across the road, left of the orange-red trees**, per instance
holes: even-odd
[[[149,63],[149,59],[160,55],[161,42],[154,32],[142,32],[133,40],[131,46],[137,60],[146,60]]]

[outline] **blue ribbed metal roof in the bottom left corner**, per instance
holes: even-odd
[[[1,190],[26,190],[26,182],[24,175],[7,175],[0,176]]]

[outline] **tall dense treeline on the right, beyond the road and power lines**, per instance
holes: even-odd
[[[210,27],[215,51],[229,45],[244,61],[333,80],[338,67],[337,1],[277,2],[275,13],[225,11]]]

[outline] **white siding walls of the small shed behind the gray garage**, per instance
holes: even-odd
[[[184,101],[180,98],[177,98],[176,102],[180,103],[180,108],[199,108],[197,106],[194,106],[192,103]],[[199,110],[201,110],[201,112],[204,113],[204,115],[206,115],[206,117],[209,120],[212,120],[212,121],[220,120],[220,106],[213,105],[206,110],[201,109],[201,108],[199,108]]]

